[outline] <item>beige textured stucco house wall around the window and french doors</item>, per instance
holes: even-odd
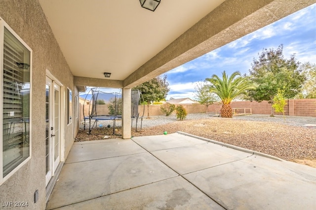
[[[28,202],[29,207],[26,209],[43,210],[46,205],[44,123],[46,69],[64,85],[63,90],[67,90],[67,87],[71,88],[74,96],[78,94],[78,90],[74,87],[73,75],[37,0],[0,0],[0,17],[33,50],[32,158],[0,186],[0,202]],[[66,96],[65,93],[64,95]],[[67,116],[67,111],[65,115]],[[64,118],[62,124],[64,124],[61,129],[64,130],[66,157],[79,123],[73,118],[72,124],[67,126],[67,118]],[[39,201],[35,204],[36,190],[39,190]]]

